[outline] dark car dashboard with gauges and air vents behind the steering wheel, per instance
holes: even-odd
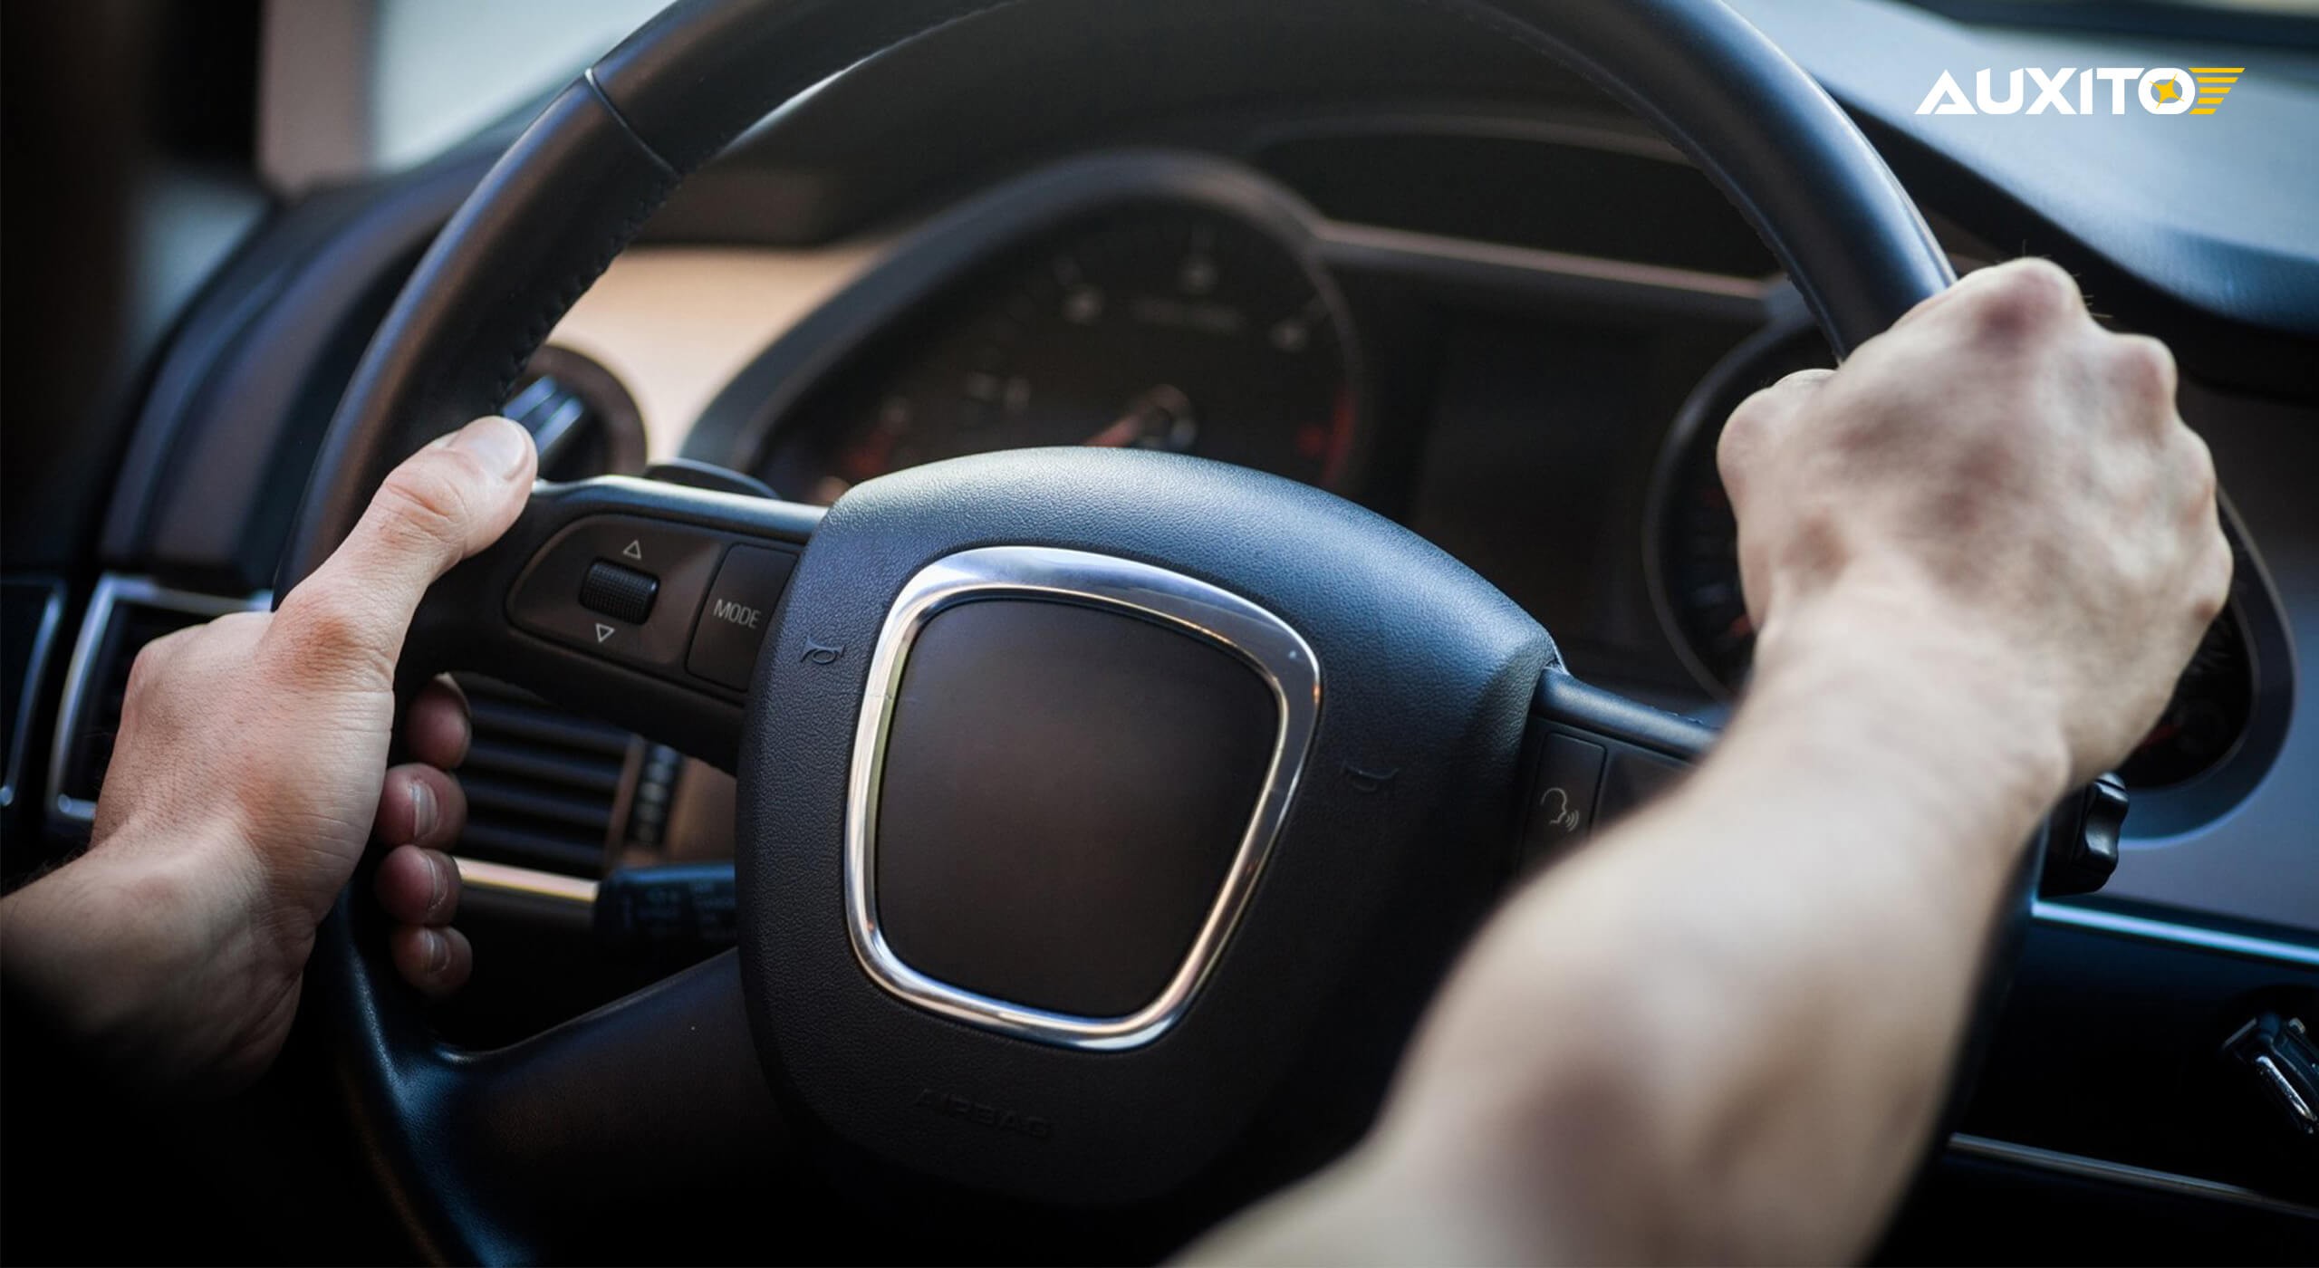
[[[2319,176],[2291,141],[2319,130],[2319,90],[2282,74],[2233,97],[2268,111],[2259,144],[2280,146],[2238,174],[2196,146],[2120,153],[2048,121],[1999,146],[1915,118],[1918,72],[2036,60],[2045,37],[1885,2],[1742,7],[1862,118],[1960,271],[2052,255],[2120,329],[2175,345],[2238,556],[2226,612],[2117,772],[2115,879],[2043,902],[2024,934],[1948,1198],[1985,1198],[1994,1171],[2319,1217],[2307,1141],[2217,1064],[2252,1018],[2319,1018],[2319,684],[2303,672],[2319,656],[2319,190],[2296,183]],[[1716,433],[1749,392],[1830,355],[1700,172],[1589,88],[1398,7],[1150,7],[1069,65],[1006,21],[856,67],[689,181],[517,382],[510,415],[550,473],[659,464],[835,503],[1006,447],[1208,457],[1433,540],[1544,624],[1577,677],[1728,716],[1753,631]],[[902,127],[897,100],[944,109]],[[506,139],[285,209],[188,311],[93,575],[42,580],[23,607],[12,589],[9,642],[51,688],[9,705],[0,802],[32,807],[49,848],[86,832],[135,649],[271,598],[355,357]],[[2113,197],[2150,172],[2147,197]],[[2254,172],[2280,183],[2249,190]],[[2303,192],[2300,218],[2280,209]],[[631,927],[612,950],[591,911],[624,869],[730,860],[726,774],[468,691],[459,853],[482,976],[443,1006],[448,1034],[531,1034],[730,937],[714,886],[670,937]],[[35,865],[12,853],[12,872]],[[1932,1224],[1915,1245],[1967,1245]]]

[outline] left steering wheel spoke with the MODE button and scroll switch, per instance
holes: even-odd
[[[819,522],[654,480],[540,484],[429,591],[399,688],[475,670],[733,770],[758,647]]]

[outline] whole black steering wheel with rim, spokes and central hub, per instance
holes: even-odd
[[[278,591],[394,461],[501,406],[686,172],[798,90],[1004,2],[686,0],[573,81],[380,327]],[[1839,352],[1953,280],[1844,111],[1718,0],[1424,7],[1681,146]],[[640,1194],[800,1159],[870,1208],[974,1212],[990,1245],[1037,1215],[1166,1249],[1361,1131],[1510,876],[1533,763],[1579,760],[1609,795],[1621,763],[1711,739],[1577,684],[1410,531],[1132,450],[944,461],[828,512],[543,484],[422,605],[404,682],[448,668],[733,770],[742,937],[473,1052],[429,1032],[371,904],[341,899],[311,981],[438,1259],[691,1219]]]

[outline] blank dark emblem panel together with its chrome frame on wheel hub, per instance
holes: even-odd
[[[1278,617],[1178,573],[1041,547],[925,568],[856,744],[863,964],[1025,1039],[1157,1039],[1264,862],[1317,688]]]

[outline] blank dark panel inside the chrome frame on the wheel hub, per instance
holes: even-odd
[[[1053,600],[935,614],[886,737],[888,946],[993,999],[1134,1013],[1215,906],[1278,730],[1255,670],[1155,621]]]

